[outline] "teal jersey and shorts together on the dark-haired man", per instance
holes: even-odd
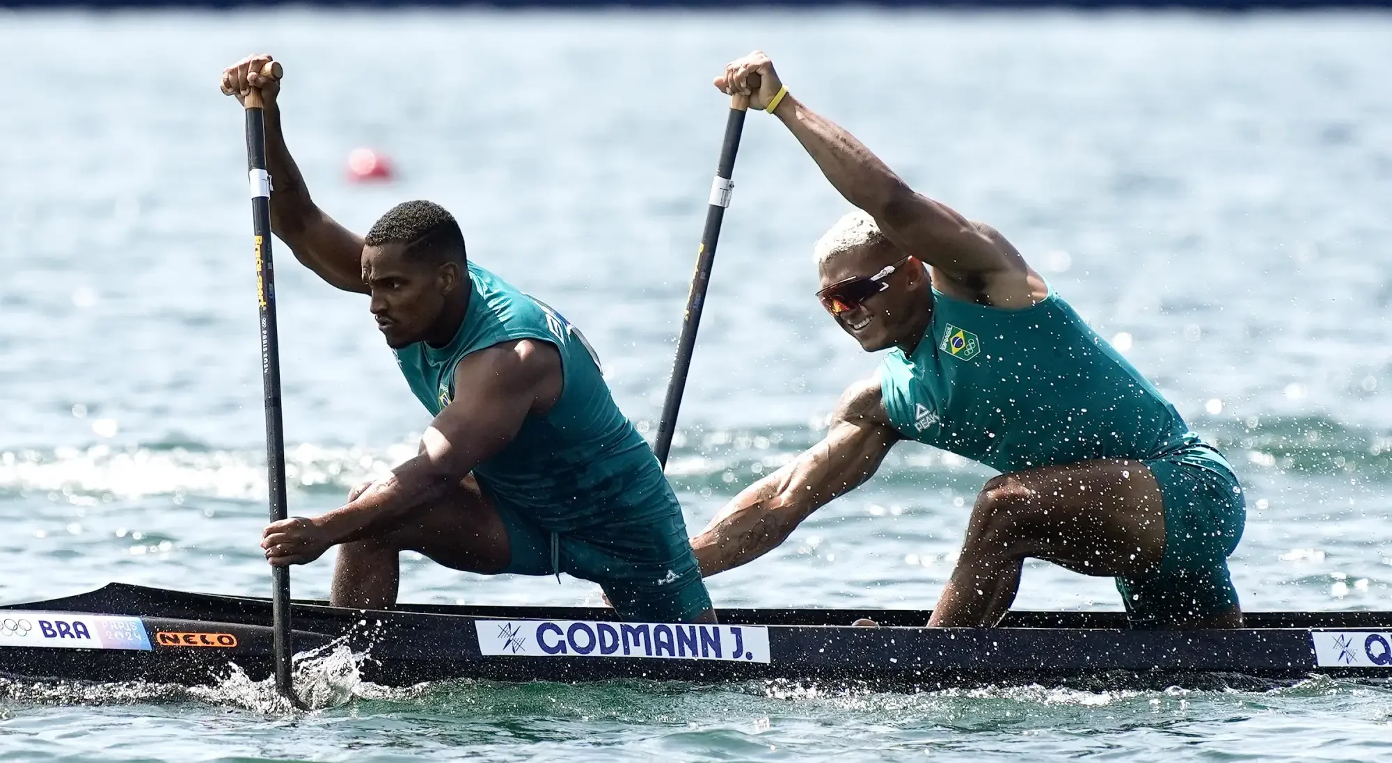
[[[512,441],[475,464],[473,478],[507,528],[504,572],[568,572],[604,586],[621,613],[690,620],[710,608],[681,505],[647,441],[610,395],[594,349],[548,305],[469,263],[469,305],[443,347],[395,348],[416,398],[433,415],[454,402],[469,355],[516,340],[557,348],[561,394]]]

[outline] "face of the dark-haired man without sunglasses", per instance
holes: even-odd
[[[459,283],[459,267],[406,256],[401,244],[363,246],[362,281],[372,291],[377,329],[393,349],[401,349],[427,338]]]

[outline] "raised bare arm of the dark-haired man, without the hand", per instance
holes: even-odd
[[[366,294],[362,283],[362,237],[324,214],[299,174],[280,125],[280,106],[266,104],[266,168],[274,189],[270,195],[270,227],[295,259],[330,285]]]

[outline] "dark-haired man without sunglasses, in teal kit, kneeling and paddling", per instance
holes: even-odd
[[[306,564],[338,546],[331,600],[345,607],[393,606],[412,550],[469,572],[568,572],[600,583],[628,620],[714,621],[677,497],[579,331],[469,263],[438,205],[397,205],[366,237],[324,214],[285,148],[267,63],[228,67],[223,91],[262,92],[273,233],[324,281],[370,295],[434,420],[390,478],[267,526],[266,558]]]

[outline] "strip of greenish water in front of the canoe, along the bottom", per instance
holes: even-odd
[[[1386,689],[1265,693],[1043,686],[916,695],[806,686],[445,682],[281,716],[235,691],[0,686],[14,759],[102,760],[1377,760]],[[35,706],[35,695],[49,705]],[[81,730],[81,731],[78,731]]]

